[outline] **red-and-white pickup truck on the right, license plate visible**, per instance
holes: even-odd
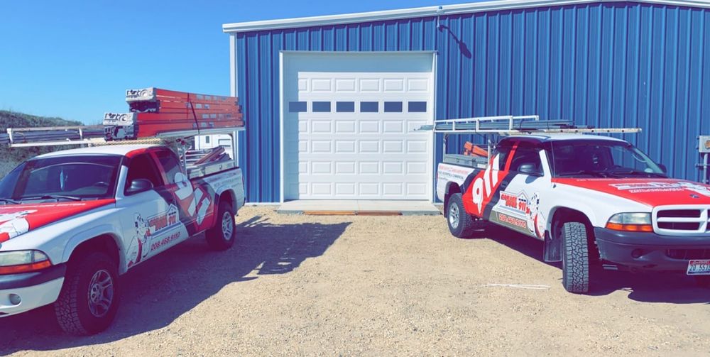
[[[665,175],[616,138],[558,133],[503,138],[488,158],[444,155],[437,196],[454,236],[484,223],[544,241],[569,292],[590,265],[663,270],[710,283],[710,186]]]

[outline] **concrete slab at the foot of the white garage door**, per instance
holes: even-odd
[[[281,204],[280,214],[319,216],[436,216],[441,214],[427,201],[320,200],[297,199]]]

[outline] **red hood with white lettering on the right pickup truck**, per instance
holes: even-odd
[[[685,180],[556,178],[552,182],[613,194],[650,207],[666,204],[710,204],[709,185]]]

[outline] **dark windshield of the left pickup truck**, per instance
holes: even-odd
[[[0,181],[0,198],[98,199],[114,196],[119,155],[38,158],[18,165]]]

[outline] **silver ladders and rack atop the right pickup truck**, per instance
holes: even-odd
[[[535,134],[535,133],[638,133],[640,128],[577,127],[571,121],[540,120],[540,116],[482,116],[444,119],[424,125],[417,131],[444,134]]]

